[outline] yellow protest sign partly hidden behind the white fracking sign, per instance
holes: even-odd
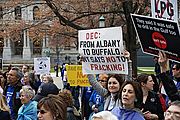
[[[87,75],[82,74],[82,65],[67,65],[66,70],[70,86],[90,86]]]

